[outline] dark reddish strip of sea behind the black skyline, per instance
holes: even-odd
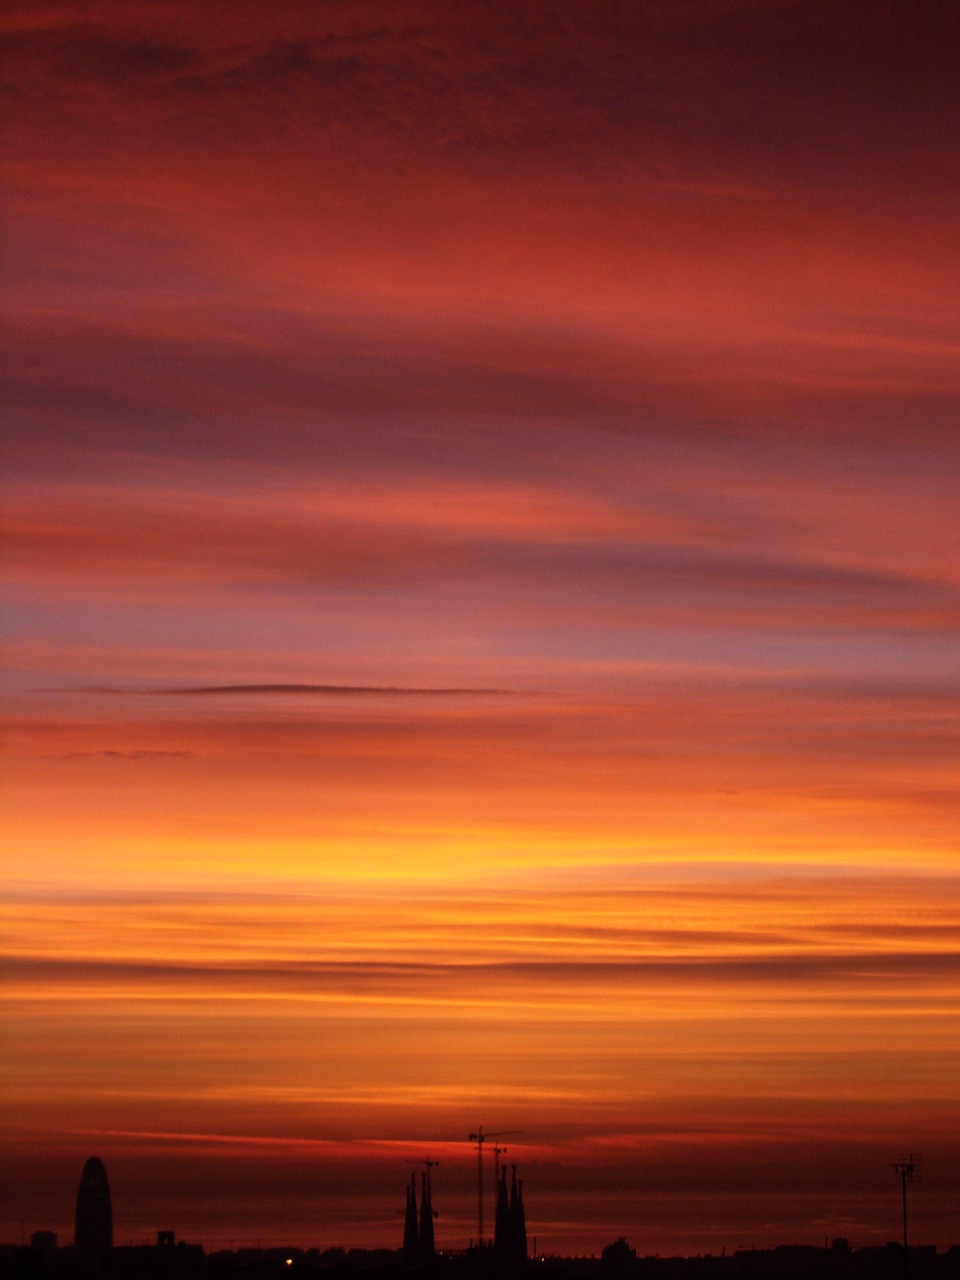
[[[911,1193],[910,1236],[915,1244],[943,1249],[960,1244],[960,1197],[925,1188]],[[476,1234],[471,1197],[434,1192],[438,1210],[436,1242],[440,1248],[462,1248]],[[270,1194],[264,1188],[259,1203],[202,1203],[145,1206],[115,1204],[118,1243],[155,1238],[159,1229],[178,1238],[215,1247],[280,1245],[398,1247],[403,1231],[403,1187],[396,1204],[371,1210],[369,1198],[317,1201],[315,1197]],[[493,1206],[490,1206],[493,1208]],[[538,1252],[590,1254],[625,1235],[640,1254],[718,1254],[740,1248],[776,1244],[814,1244],[846,1236],[856,1248],[884,1244],[902,1230],[900,1188],[891,1175],[888,1193],[736,1194],[690,1196],[584,1194],[553,1192],[549,1202],[526,1189],[530,1247]],[[37,1222],[36,1226],[46,1224]],[[65,1238],[69,1238],[69,1229]],[[10,1238],[10,1233],[6,1233]]]

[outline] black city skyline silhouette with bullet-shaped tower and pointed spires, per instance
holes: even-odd
[[[474,1135],[471,1134],[471,1138]],[[563,1249],[561,1242],[564,1239],[557,1234],[556,1229],[550,1230],[549,1221],[540,1216],[534,1217],[534,1231],[536,1233],[538,1226],[541,1234],[532,1235],[532,1243],[527,1234],[526,1212],[524,1206],[524,1179],[517,1176],[518,1166],[516,1162],[511,1162],[509,1166],[509,1187],[507,1183],[507,1166],[498,1166],[493,1170],[494,1172],[494,1212],[490,1224],[490,1234],[484,1236],[477,1236],[471,1234],[468,1238],[465,1235],[465,1219],[462,1216],[462,1208],[460,1216],[457,1216],[456,1208],[453,1213],[448,1212],[448,1207],[457,1204],[457,1185],[461,1188],[461,1204],[462,1204],[462,1176],[454,1176],[451,1179],[452,1185],[442,1185],[440,1188],[440,1204],[442,1208],[434,1207],[433,1197],[433,1172],[439,1167],[440,1161],[431,1157],[422,1158],[407,1158],[407,1165],[421,1166],[420,1172],[416,1171],[410,1174],[410,1183],[406,1184],[406,1207],[403,1211],[397,1208],[394,1211],[394,1221],[390,1222],[389,1217],[380,1219],[380,1222],[388,1222],[388,1231],[384,1236],[371,1239],[365,1229],[369,1231],[370,1222],[362,1224],[357,1222],[352,1228],[344,1222],[344,1220],[332,1212],[332,1206],[329,1201],[319,1203],[316,1199],[310,1206],[310,1208],[302,1213],[300,1221],[291,1230],[289,1226],[284,1231],[283,1225],[276,1220],[270,1219],[269,1215],[264,1215],[264,1203],[251,1202],[248,1206],[248,1215],[252,1212],[255,1215],[255,1221],[262,1230],[257,1230],[255,1236],[239,1238],[236,1234],[230,1234],[224,1238],[216,1230],[210,1234],[207,1233],[204,1238],[204,1231],[200,1231],[200,1238],[184,1239],[183,1229],[172,1230],[169,1226],[166,1229],[150,1229],[140,1230],[136,1229],[132,1221],[123,1222],[116,1233],[116,1239],[114,1239],[114,1215],[113,1215],[113,1198],[110,1192],[110,1180],[104,1165],[104,1161],[97,1156],[87,1157],[79,1176],[78,1188],[76,1193],[76,1213],[73,1220],[73,1233],[65,1233],[58,1230],[58,1219],[49,1219],[45,1225],[32,1228],[29,1231],[29,1253],[24,1252],[26,1247],[26,1224],[22,1224],[22,1240],[19,1242],[19,1252],[17,1251],[17,1242],[10,1239],[1,1239],[0,1245],[3,1245],[14,1262],[19,1266],[26,1265],[24,1260],[37,1258],[41,1252],[47,1256],[49,1266],[55,1266],[59,1270],[76,1268],[78,1274],[93,1276],[93,1275],[106,1275],[110,1274],[111,1267],[114,1271],[123,1272],[124,1267],[132,1275],[146,1274],[150,1271],[147,1266],[151,1254],[143,1254],[142,1251],[155,1247],[160,1251],[159,1257],[168,1258],[172,1262],[179,1258],[179,1261],[186,1266],[189,1263],[195,1267],[198,1260],[202,1258],[204,1253],[221,1252],[224,1256],[234,1254],[237,1251],[253,1252],[257,1251],[280,1251],[293,1248],[298,1253],[308,1252],[311,1256],[317,1258],[324,1254],[326,1258],[326,1266],[337,1265],[337,1257],[342,1257],[344,1249],[353,1251],[360,1254],[366,1251],[370,1254],[364,1263],[364,1268],[369,1268],[374,1265],[385,1265],[384,1258],[387,1256],[396,1256],[396,1260],[407,1267],[413,1267],[416,1270],[433,1270],[440,1266],[451,1267],[456,1263],[457,1258],[470,1260],[472,1256],[476,1260],[476,1265],[481,1265],[486,1270],[492,1270],[498,1277],[518,1276],[522,1274],[527,1265],[539,1266],[543,1265],[544,1260],[548,1258],[576,1258],[576,1257],[593,1257],[594,1262],[600,1258],[607,1271],[611,1268],[626,1268],[627,1274],[632,1275],[632,1268],[635,1267],[637,1251],[631,1248],[626,1243],[626,1236],[623,1233],[616,1236],[611,1235],[603,1247],[600,1247],[596,1240],[605,1234],[612,1224],[603,1222],[598,1219],[593,1224],[593,1239],[584,1247],[582,1242],[580,1248],[567,1248]],[[536,1167],[536,1166],[535,1166]],[[902,1157],[900,1161],[893,1162],[892,1167],[897,1174],[897,1179],[902,1180],[904,1188],[906,1185],[908,1178],[913,1179],[918,1175],[920,1167],[920,1157],[916,1155],[910,1155],[909,1157]],[[261,1170],[253,1167],[251,1175],[257,1179],[261,1175]],[[393,1170],[396,1179],[396,1169]],[[460,1170],[462,1174],[462,1169]],[[419,1189],[419,1193],[417,1193]],[[127,1190],[124,1188],[124,1190]],[[384,1199],[387,1199],[387,1189],[384,1192]],[[215,1199],[218,1196],[218,1188],[210,1188],[211,1196]],[[371,1193],[370,1194],[375,1194]],[[582,1194],[582,1190],[581,1190]],[[549,1194],[548,1194],[549,1201]],[[648,1197],[650,1199],[650,1197]],[[755,1197],[760,1203],[763,1203],[763,1197]],[[654,1197],[655,1201],[655,1197]],[[899,1197],[887,1196],[887,1222],[891,1225],[899,1221]],[[123,1196],[122,1203],[129,1203],[127,1196]],[[696,1196],[687,1196],[684,1198],[684,1208],[687,1215],[696,1215],[700,1201]],[[163,1217],[164,1208],[169,1210],[169,1204],[164,1206],[161,1199],[156,1202],[147,1201],[146,1204],[140,1206],[142,1213],[146,1210],[147,1215],[152,1215],[154,1221]],[[383,1204],[380,1206],[384,1207]],[[635,1206],[636,1210],[637,1206]],[[849,1210],[851,1206],[846,1206]],[[927,1208],[925,1206],[922,1206]],[[36,1212],[36,1206],[33,1207]],[[189,1216],[184,1215],[186,1204],[180,1203],[179,1216],[183,1220],[186,1217],[189,1221]],[[296,1211],[296,1202],[294,1202]],[[804,1275],[817,1274],[817,1266],[824,1266],[823,1257],[829,1256],[832,1260],[831,1266],[838,1267],[840,1274],[844,1272],[844,1267],[854,1266],[854,1257],[859,1258],[856,1266],[860,1271],[858,1274],[869,1276],[882,1276],[887,1275],[897,1266],[904,1268],[905,1276],[909,1280],[910,1261],[914,1263],[914,1272],[916,1275],[943,1275],[952,1276],[957,1270],[960,1270],[960,1244],[955,1240],[950,1240],[943,1244],[937,1242],[923,1239],[918,1240],[916,1235],[910,1238],[910,1248],[908,1249],[908,1217],[906,1217],[906,1193],[904,1190],[902,1199],[902,1236],[897,1238],[896,1231],[883,1230],[870,1233],[864,1231],[863,1224],[856,1224],[856,1230],[859,1235],[852,1239],[849,1235],[831,1235],[827,1234],[822,1240],[815,1239],[815,1231],[808,1229],[805,1233],[800,1234],[800,1238],[764,1238],[754,1239],[750,1244],[741,1242],[737,1245],[730,1243],[730,1239],[723,1239],[731,1236],[731,1224],[724,1224],[723,1229],[716,1233],[714,1240],[712,1240],[710,1248],[698,1248],[684,1251],[677,1248],[667,1247],[671,1242],[669,1226],[662,1221],[659,1217],[655,1220],[653,1215],[649,1213],[645,1220],[641,1220],[640,1226],[640,1257],[646,1257],[648,1261],[652,1258],[671,1257],[671,1256],[686,1256],[692,1257],[707,1257],[714,1260],[724,1260],[727,1257],[736,1258],[741,1256],[754,1257],[756,1266],[773,1267],[772,1274],[778,1274],[776,1266],[769,1261],[771,1256],[785,1257],[785,1249],[792,1249],[795,1253],[796,1267]],[[434,1222],[439,1219],[444,1230],[442,1231],[442,1239],[436,1243]],[[168,1213],[169,1220],[169,1213]],[[630,1215],[625,1215],[625,1221],[631,1221],[632,1226],[636,1229],[637,1220],[636,1215],[631,1219]],[[927,1230],[929,1222],[929,1212],[922,1215],[920,1221],[923,1224],[920,1229],[920,1235]],[[854,1225],[855,1220],[850,1216],[838,1215],[833,1220],[836,1224]],[[951,1226],[955,1226],[955,1221],[950,1220]],[[824,1225],[823,1222],[819,1225]],[[914,1222],[914,1226],[916,1224]],[[52,1229],[51,1229],[52,1226]],[[247,1217],[244,1226],[251,1226],[251,1219]],[[737,1224],[737,1230],[742,1234],[745,1221]],[[230,1228],[233,1231],[233,1228]],[[356,1234],[357,1239],[352,1239],[349,1234],[351,1230]],[[950,1230],[950,1228],[948,1228]],[[337,1234],[339,1233],[339,1234]],[[886,1239],[883,1238],[886,1234]],[[721,1243],[717,1245],[716,1239],[719,1238]],[[570,1238],[567,1238],[568,1240]],[[660,1248],[652,1248],[650,1242],[658,1242]],[[644,1243],[646,1243],[646,1249],[644,1249]],[[114,1251],[114,1244],[116,1244],[116,1252]],[[188,1247],[188,1248],[187,1248]],[[124,1252],[125,1251],[125,1252]],[[166,1252],[173,1251],[173,1252]],[[358,1252],[357,1252],[358,1251]],[[384,1258],[380,1258],[384,1254]],[[900,1258],[900,1263],[896,1260]],[[376,1260],[380,1258],[378,1262]],[[817,1260],[820,1258],[818,1263]],[[111,1260],[114,1260],[111,1262]],[[146,1261],[145,1261],[146,1260]],[[445,1261],[443,1261],[445,1260]],[[605,1261],[604,1261],[605,1260]],[[767,1260],[767,1261],[763,1261]],[[314,1263],[319,1265],[319,1263]],[[360,1262],[357,1263],[360,1265]],[[146,1270],[145,1270],[146,1268]],[[810,1270],[813,1268],[813,1271]],[[938,1270],[940,1268],[940,1270]],[[28,1270],[28,1268],[27,1268]],[[118,1272],[118,1274],[119,1274]],[[765,1272],[764,1272],[765,1274]],[[799,1272],[797,1272],[799,1274]]]

